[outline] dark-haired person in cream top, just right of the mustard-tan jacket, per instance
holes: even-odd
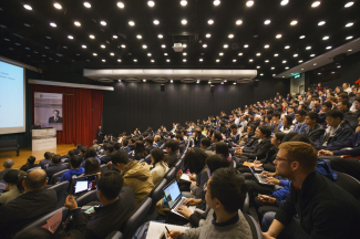
[[[152,165],[154,166],[151,170],[153,183],[154,185],[157,185],[157,183],[163,179],[164,175],[168,172],[168,166],[166,163],[167,157],[165,156],[163,149],[156,147],[151,152],[151,159]]]

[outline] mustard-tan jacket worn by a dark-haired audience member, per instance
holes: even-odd
[[[130,186],[134,190],[135,207],[154,188],[153,177],[146,163],[132,160],[121,170],[121,175],[124,177],[124,185]]]

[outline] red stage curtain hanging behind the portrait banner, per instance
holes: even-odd
[[[58,144],[91,146],[96,129],[102,125],[103,91],[31,85],[31,122],[34,124],[34,92],[63,94],[63,127],[58,131]]]

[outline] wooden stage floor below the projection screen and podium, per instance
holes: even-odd
[[[3,169],[3,162],[8,158],[12,159],[14,162],[12,168],[20,168],[22,165],[24,165],[29,158],[29,156],[34,156],[37,158],[35,164],[39,164],[40,160],[44,159],[44,153],[51,152],[59,155],[65,155],[69,150],[75,149],[76,146],[73,144],[61,144],[58,145],[56,148],[53,149],[47,149],[47,150],[37,150],[32,152],[31,147],[20,148],[20,154],[17,156],[16,150],[11,152],[0,152],[0,170]]]

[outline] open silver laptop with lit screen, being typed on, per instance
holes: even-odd
[[[195,206],[184,205],[184,200],[186,198],[182,197],[182,193],[181,193],[181,190],[178,188],[178,185],[177,185],[177,181],[175,179],[172,180],[172,183],[169,183],[166,187],[164,187],[164,194],[165,194],[165,199],[166,199],[166,201],[168,204],[171,212],[176,214],[176,215],[178,215],[178,216],[181,216],[183,218],[186,218],[186,217],[184,217],[184,215],[177,212],[177,209],[181,206],[185,206],[188,209],[191,209],[192,212],[194,212],[194,210],[196,208]]]

